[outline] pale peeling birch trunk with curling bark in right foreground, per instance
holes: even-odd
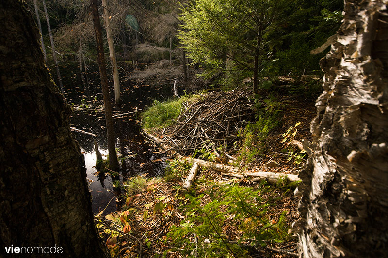
[[[300,174],[305,258],[386,257],[388,248],[387,0],[345,0],[326,58]]]

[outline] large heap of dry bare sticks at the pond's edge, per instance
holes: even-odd
[[[252,91],[212,92],[187,105],[177,123],[163,132],[171,150],[191,156],[204,149],[217,157],[231,158],[235,142],[249,121],[254,119]],[[220,155],[221,153],[221,155]]]

